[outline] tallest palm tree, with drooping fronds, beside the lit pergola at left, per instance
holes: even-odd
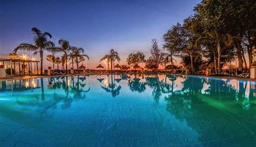
[[[33,32],[33,44],[30,43],[21,43],[18,45],[14,52],[16,53],[18,50],[26,50],[29,52],[33,52],[34,55],[39,53],[40,55],[40,73],[43,75],[43,53],[44,50],[50,50],[50,48],[54,47],[54,43],[48,41],[49,38],[52,38],[52,35],[48,32],[41,32],[38,28],[32,27],[31,31]]]

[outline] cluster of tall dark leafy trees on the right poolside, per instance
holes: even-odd
[[[256,45],[255,10],[256,1],[252,0],[203,0],[192,16],[164,34],[164,48],[172,55],[180,54],[183,61],[189,57],[192,72],[198,54],[206,57],[208,64],[214,63],[219,74],[221,67],[235,58],[238,69],[247,70]]]

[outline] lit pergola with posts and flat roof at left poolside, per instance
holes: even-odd
[[[38,62],[40,61],[36,61],[36,60],[23,60],[23,59],[12,59],[12,58],[0,58],[0,62],[3,62],[3,65],[4,65],[4,62],[10,62],[10,65],[11,65],[11,69],[12,69],[12,63],[14,65],[14,71],[16,70],[15,69],[15,65],[16,63],[18,63],[18,70],[19,70],[19,75],[21,75],[21,64],[23,65],[23,68],[24,68],[24,65],[25,63],[28,63],[28,70],[29,70],[29,75],[31,75],[31,69],[32,69],[32,63],[36,63],[36,68],[37,68],[37,75],[38,75]],[[14,72],[14,75],[16,75],[16,72]],[[11,76],[12,76],[12,70],[11,70]]]

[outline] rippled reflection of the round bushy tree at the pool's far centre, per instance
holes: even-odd
[[[139,78],[134,78],[131,80],[128,80],[127,85],[130,87],[130,90],[133,91],[138,91],[138,92],[143,92],[146,90],[146,83],[145,82],[140,82]]]

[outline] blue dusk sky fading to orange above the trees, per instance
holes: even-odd
[[[1,1],[0,53],[12,52],[19,43],[32,43],[31,27],[37,27],[50,32],[56,45],[59,39],[67,39],[71,46],[84,48],[90,57],[90,69],[95,69],[99,59],[111,48],[119,53],[120,64],[125,64],[131,52],[140,51],[149,56],[153,38],[162,47],[163,34],[193,14],[193,6],[199,2]],[[44,56],[48,54],[45,52]],[[48,66],[44,60],[44,67]]]

